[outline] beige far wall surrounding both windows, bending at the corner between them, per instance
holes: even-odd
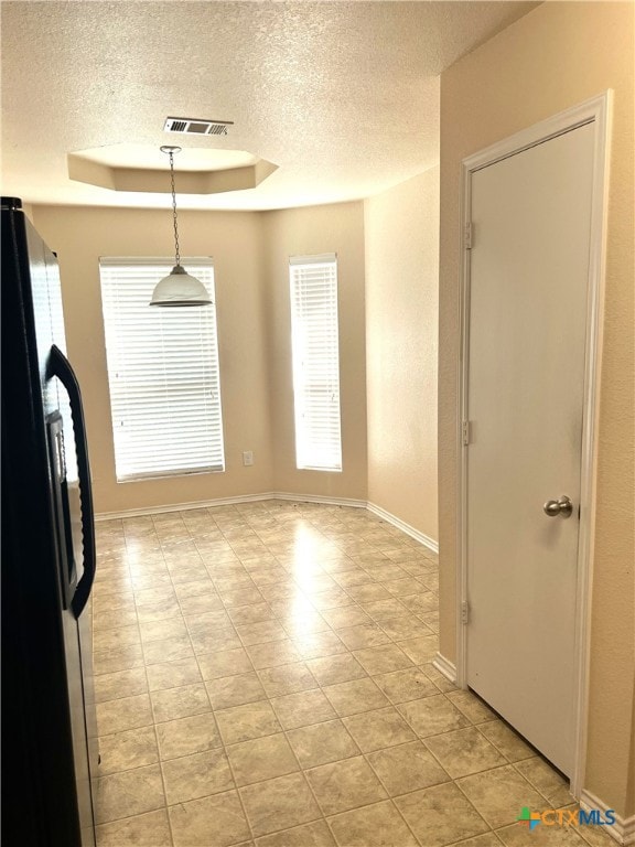
[[[362,203],[289,212],[180,212],[183,256],[213,256],[225,435],[224,473],[117,483],[99,256],[164,256],[163,211],[36,206],[60,258],[69,357],[82,384],[97,512],[284,491],[366,498]],[[290,255],[336,251],[344,472],[297,471],[290,358]],[[243,465],[243,451],[254,467]]]

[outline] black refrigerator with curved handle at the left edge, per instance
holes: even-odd
[[[57,260],[2,197],[2,844],[95,845],[95,532]]]

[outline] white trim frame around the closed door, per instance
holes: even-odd
[[[575,592],[574,697],[575,726],[571,793],[580,797],[586,759],[589,716],[589,661],[591,635],[591,588],[593,577],[593,529],[595,524],[595,471],[602,352],[606,218],[609,200],[609,156],[612,92],[585,100],[547,120],[510,136],[462,161],[461,190],[461,346],[458,363],[459,416],[456,421],[456,684],[467,687],[467,449],[463,421],[467,419],[470,367],[470,243],[472,174],[487,165],[520,153],[586,124],[594,125],[593,189],[586,301],[584,355],[584,400],[582,411],[582,454],[580,527],[578,543],[578,588]],[[478,238],[478,233],[474,234]],[[469,436],[467,436],[469,440]],[[465,621],[465,622],[464,622]]]

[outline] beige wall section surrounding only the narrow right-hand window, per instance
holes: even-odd
[[[366,500],[364,206],[343,203],[263,215],[276,491]],[[342,473],[298,471],[293,437],[289,256],[337,254]]]

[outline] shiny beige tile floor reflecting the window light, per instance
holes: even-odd
[[[99,847],[606,844],[516,822],[572,798],[432,666],[437,557],[395,527],[266,501],[97,533]]]

